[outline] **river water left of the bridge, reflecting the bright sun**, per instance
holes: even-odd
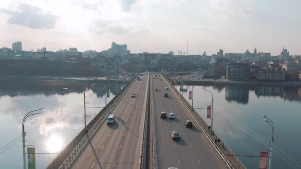
[[[123,86],[122,83],[108,83],[107,102]],[[86,104],[88,124],[101,110],[89,107],[105,105],[103,83],[1,81],[0,169],[23,168],[22,121],[28,112],[40,108],[45,110],[25,121],[26,145],[36,148],[36,169],[45,169],[56,157],[55,153],[59,153],[83,129],[84,91],[86,102],[89,102]]]

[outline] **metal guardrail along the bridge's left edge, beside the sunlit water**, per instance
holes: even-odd
[[[46,169],[69,169],[81,155],[82,150],[86,148],[90,140],[94,137],[96,131],[106,120],[109,113],[115,108],[127,89],[135,82],[134,77],[126,84],[116,96],[98,113],[93,120],[83,128],[81,132],[64,148],[64,150],[56,156]]]

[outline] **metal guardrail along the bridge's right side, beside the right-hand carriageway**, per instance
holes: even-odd
[[[212,144],[213,148],[221,156],[222,160],[226,163],[228,168],[229,169],[247,169],[236,156],[231,156],[231,158],[228,158],[224,155],[225,152],[227,152],[227,154],[231,154],[231,155],[234,155],[234,154],[232,153],[232,151],[230,151],[230,149],[223,142],[221,142],[221,144],[224,145],[223,147],[225,148],[224,149],[225,151],[222,151],[218,146],[216,146],[214,144],[213,137],[211,137],[210,133],[208,133],[208,131],[205,129],[205,128],[208,128],[208,125],[205,123],[205,121],[195,111],[194,112],[191,111],[191,105],[189,104],[189,102],[185,98],[181,98],[181,93],[178,90],[176,90],[174,85],[172,85],[172,83],[170,81],[168,81],[165,76],[163,76],[163,77],[164,77],[164,80],[173,89],[173,92],[177,95],[179,100],[184,104],[184,106],[186,107],[188,112],[191,114],[191,116],[198,123],[199,127],[201,127],[202,131],[205,133],[205,136],[207,137],[209,142]],[[226,151],[226,150],[228,150],[228,151]],[[231,162],[229,160],[231,160]]]

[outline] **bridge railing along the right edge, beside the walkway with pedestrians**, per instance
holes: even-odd
[[[172,84],[172,82],[169,79],[167,79],[165,76],[164,76],[164,78],[165,78],[166,82],[168,84],[170,84],[170,86],[176,92],[176,94],[179,96],[179,98],[181,98],[182,94],[175,88],[175,86]],[[211,142],[214,143],[214,138],[218,137],[218,136],[214,133],[214,131],[213,131],[213,135],[211,135],[211,133],[207,129],[209,127],[208,124],[201,118],[201,116],[196,111],[191,111],[192,106],[185,98],[182,98],[181,100],[183,101],[184,105],[190,110],[190,113],[192,113],[193,117],[196,118],[196,120],[200,123],[201,127],[203,127],[203,130],[209,136]],[[228,148],[226,146],[226,144],[224,142],[221,141],[219,145],[220,146],[216,145],[215,148],[221,153],[221,155],[223,156],[223,158],[225,158],[226,161],[229,161],[231,163],[231,165],[230,165],[231,168],[247,169],[245,167],[245,165],[234,155],[234,153],[230,150],[230,148]],[[225,155],[231,155],[231,156],[225,156]]]

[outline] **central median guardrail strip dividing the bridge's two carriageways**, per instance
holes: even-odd
[[[146,110],[144,114],[144,125],[143,125],[143,138],[141,141],[141,149],[140,149],[140,159],[139,159],[139,169],[147,169],[148,166],[148,126],[149,126],[149,106],[150,106],[150,77],[148,77],[147,84],[147,94],[145,96],[146,99]]]

